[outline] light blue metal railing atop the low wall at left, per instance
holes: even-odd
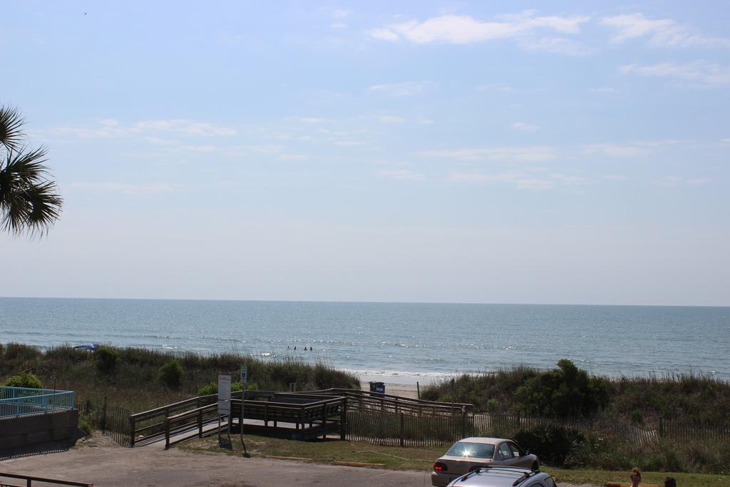
[[[74,392],[0,386],[0,418],[74,409]]]

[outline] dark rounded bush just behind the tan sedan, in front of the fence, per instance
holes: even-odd
[[[571,453],[585,445],[585,436],[577,429],[565,426],[538,426],[529,431],[515,434],[515,441],[530,453],[539,456],[540,461],[555,467],[565,467]]]

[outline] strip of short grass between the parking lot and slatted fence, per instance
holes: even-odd
[[[193,440],[177,445],[181,450],[199,453],[222,453],[240,456],[242,454],[239,437],[234,435],[233,450],[218,448],[217,437]],[[386,469],[414,470],[431,472],[433,462],[445,451],[444,447],[399,448],[378,446],[364,442],[344,442],[339,440],[302,442],[280,440],[277,438],[245,435],[246,448],[253,457],[289,456],[312,459],[315,463],[334,464],[336,461],[355,461],[371,464],[385,464]],[[629,472],[592,469],[555,469],[543,467],[543,471],[553,475],[558,482],[591,484],[602,486],[605,482],[626,482]],[[673,472],[642,472],[645,483],[664,485],[666,477],[677,479],[678,486],[687,487],[730,487],[728,475],[705,475]]]

